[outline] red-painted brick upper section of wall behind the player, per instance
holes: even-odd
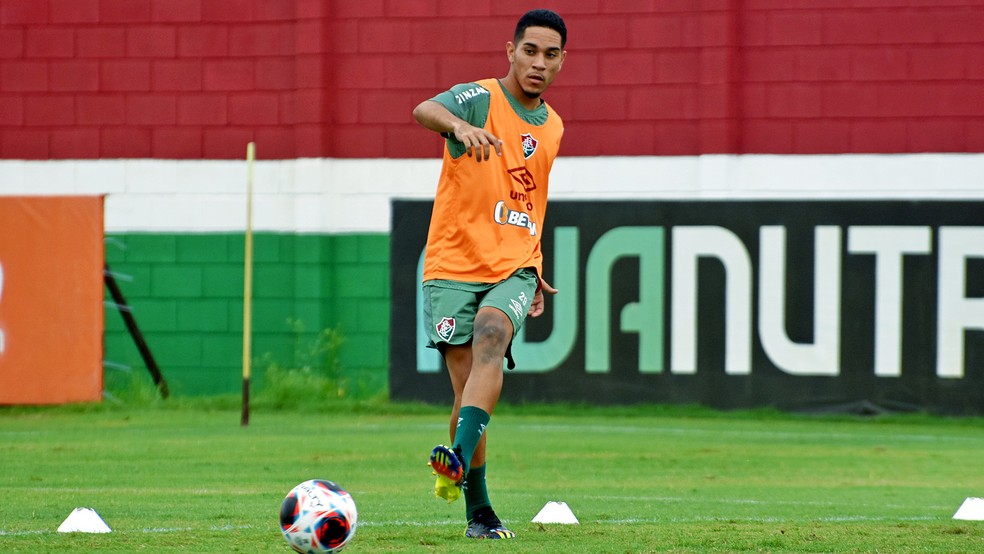
[[[546,0],[563,153],[984,151],[984,0]],[[0,157],[433,157],[528,2],[0,0]]]

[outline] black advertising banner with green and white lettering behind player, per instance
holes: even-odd
[[[984,414],[984,203],[554,201],[560,290],[510,402]],[[390,393],[447,402],[421,329],[430,203],[396,201]],[[492,215],[490,215],[492,217]]]

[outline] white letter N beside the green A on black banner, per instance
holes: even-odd
[[[673,228],[673,305],[670,371],[697,372],[697,261],[717,258],[724,264],[724,372],[752,371],[752,262],[745,245],[724,227]]]

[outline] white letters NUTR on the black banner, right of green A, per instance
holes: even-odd
[[[758,336],[766,355],[783,371],[801,376],[840,374],[841,228],[816,227],[814,268],[814,342],[789,340],[785,321],[785,228],[762,227],[759,252]],[[940,227],[937,279],[936,375],[960,379],[965,374],[965,335],[984,331],[984,298],[966,296],[967,260],[984,258],[984,228]],[[875,296],[874,374],[902,375],[902,258],[906,254],[932,253],[932,228],[926,226],[849,226],[848,252],[874,254]],[[751,366],[744,350],[746,327],[751,321],[745,308],[751,290],[744,286],[750,271],[745,245],[720,227],[673,228],[673,281],[670,369],[691,374],[696,367],[695,259],[715,257],[725,267],[725,371],[740,373]],[[768,292],[766,292],[768,291]],[[591,291],[588,291],[591,294]],[[734,298],[737,297],[737,298]],[[747,319],[743,319],[746,318]],[[734,346],[732,346],[734,345]]]

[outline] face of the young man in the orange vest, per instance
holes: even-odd
[[[560,33],[547,27],[527,27],[517,44],[507,48],[511,70],[527,98],[539,98],[553,82],[567,55]]]

